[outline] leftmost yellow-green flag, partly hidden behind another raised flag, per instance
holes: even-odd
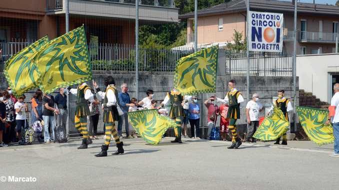
[[[14,96],[18,97],[38,86],[38,68],[32,58],[48,42],[45,36],[11,56],[3,70]]]

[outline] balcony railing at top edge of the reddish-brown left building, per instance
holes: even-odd
[[[135,0],[95,0],[115,3],[135,4]],[[139,0],[140,5],[151,5],[174,8],[174,0]],[[47,10],[62,9],[62,0],[46,0]]]

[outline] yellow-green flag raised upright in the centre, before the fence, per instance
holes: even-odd
[[[176,63],[174,88],[182,95],[215,92],[218,46],[202,49]]]

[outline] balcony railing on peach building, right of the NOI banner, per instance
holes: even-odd
[[[330,32],[299,32],[300,42],[316,42],[316,43],[335,43],[337,33]]]

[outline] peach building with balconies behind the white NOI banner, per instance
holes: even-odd
[[[278,0],[250,0],[251,11],[283,13],[283,52],[293,52],[294,4]],[[234,30],[246,37],[246,0],[233,0],[198,11],[197,44],[233,41]],[[187,45],[193,42],[194,13],[179,16],[187,19]],[[297,54],[335,52],[339,7],[326,4],[297,3]]]

